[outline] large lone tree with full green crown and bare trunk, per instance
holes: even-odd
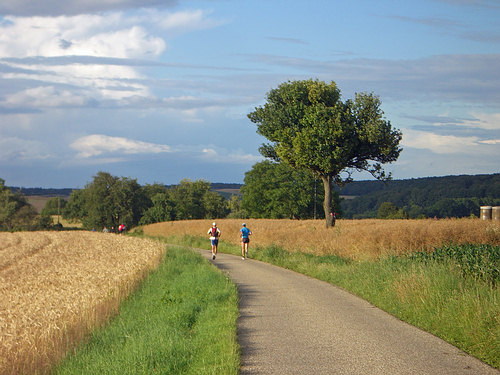
[[[380,99],[367,93],[341,100],[335,82],[288,81],[267,94],[267,102],[248,114],[257,132],[271,143],[260,152],[321,178],[327,227],[334,225],[333,183],[352,181],[354,171],[390,179],[382,164],[395,161],[401,132],[393,129],[380,108]]]

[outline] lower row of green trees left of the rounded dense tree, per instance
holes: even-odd
[[[68,220],[81,220],[86,228],[127,227],[169,220],[225,217],[228,203],[210,190],[210,183],[182,180],[167,188],[141,186],[136,179],[99,172],[84,189],[75,190],[63,210]]]

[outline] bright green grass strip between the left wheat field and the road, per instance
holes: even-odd
[[[55,374],[237,374],[238,295],[232,281],[189,250],[164,262],[119,315]]]

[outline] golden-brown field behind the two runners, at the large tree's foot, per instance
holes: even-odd
[[[171,221],[147,225],[152,236],[205,236],[211,220]],[[411,251],[430,250],[443,244],[488,243],[500,245],[500,222],[480,219],[337,220],[326,228],[323,220],[248,219],[251,246],[275,244],[289,251],[339,255],[363,260]],[[242,220],[220,219],[221,240],[239,244]],[[207,236],[207,249],[210,244]]]

